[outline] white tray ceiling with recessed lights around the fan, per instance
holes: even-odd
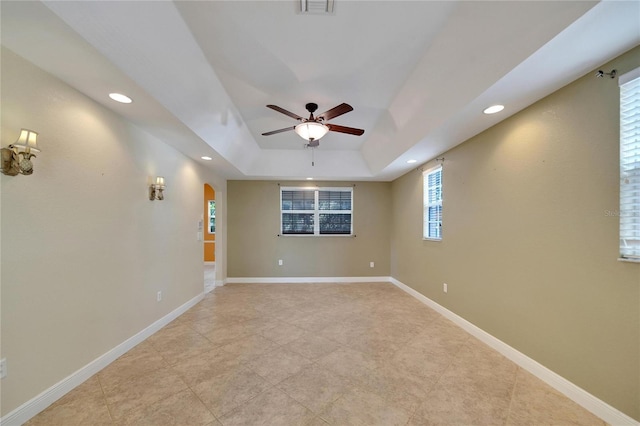
[[[640,1],[0,7],[4,46],[229,179],[392,180],[640,44]],[[364,135],[330,132],[315,166],[294,132],[261,135],[296,124],[267,104],[308,102],[352,105],[331,122]]]

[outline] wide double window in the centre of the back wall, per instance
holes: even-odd
[[[280,188],[282,235],[353,235],[353,188]]]

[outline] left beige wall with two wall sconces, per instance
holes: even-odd
[[[0,178],[6,415],[202,293],[202,188],[219,189],[224,216],[226,183],[10,51],[1,59],[2,146],[26,127],[42,149],[33,175]],[[152,202],[156,175],[167,189]]]

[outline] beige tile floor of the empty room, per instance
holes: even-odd
[[[603,425],[387,283],[231,284],[28,425]]]

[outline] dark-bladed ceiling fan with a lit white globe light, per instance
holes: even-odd
[[[313,116],[313,113],[318,109],[318,104],[308,103],[305,105],[307,111],[309,111],[309,118],[304,118],[298,114],[294,114],[286,109],[280,108],[277,105],[267,105],[267,108],[271,108],[274,111],[278,111],[284,115],[288,115],[291,118],[295,118],[300,123],[286,127],[284,129],[272,130],[270,132],[263,133],[262,136],[275,135],[276,133],[288,132],[294,130],[301,138],[309,141],[308,147],[314,148],[320,145],[320,138],[327,134],[327,132],[339,132],[349,135],[360,136],[364,133],[362,129],[356,129],[353,127],[339,126],[337,124],[329,124],[327,121],[332,118],[336,118],[342,114],[346,114],[349,111],[353,111],[353,107],[349,104],[342,103],[337,107],[331,108],[328,111]]]

